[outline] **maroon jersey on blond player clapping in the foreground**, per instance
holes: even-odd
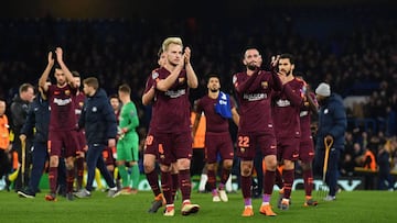
[[[155,81],[165,79],[170,71],[165,68],[159,68],[152,74]],[[167,91],[155,90],[155,132],[178,133],[191,131],[189,101],[189,87],[186,71],[182,70],[175,82]]]

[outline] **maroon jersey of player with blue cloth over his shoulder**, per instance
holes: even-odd
[[[230,101],[230,109],[234,108],[233,100]],[[204,112],[206,118],[206,132],[222,133],[228,132],[228,120],[221,116],[215,112],[215,104],[217,99],[212,99],[208,96],[204,96],[197,101],[197,113]]]

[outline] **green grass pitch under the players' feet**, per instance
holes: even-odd
[[[181,199],[175,201],[175,216],[165,218],[163,209],[150,214],[148,209],[152,193],[140,191],[135,196],[107,198],[105,192],[95,191],[92,198],[67,201],[60,197],[56,202],[44,200],[46,190],[34,199],[19,198],[15,192],[0,191],[0,222],[397,222],[397,193],[391,191],[342,191],[333,202],[321,201],[318,192],[313,197],[319,205],[304,208],[303,191],[292,191],[290,210],[277,209],[278,192],[275,191],[271,203],[277,216],[265,216],[259,213],[261,199],[254,199],[255,215],[243,218],[242,193],[229,193],[228,202],[212,202],[211,193],[192,191],[192,202],[201,205],[196,214],[182,216]]]

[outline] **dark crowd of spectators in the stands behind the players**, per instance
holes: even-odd
[[[279,10],[279,11],[278,11]],[[10,104],[22,82],[36,85],[46,54],[62,46],[71,69],[96,76],[108,94],[127,82],[132,89],[143,137],[150,108],[140,103],[144,81],[157,67],[157,52],[168,36],[181,36],[192,48],[192,64],[205,93],[205,75],[221,76],[223,90],[232,91],[232,75],[243,69],[247,46],[262,52],[264,63],[280,53],[297,56],[297,70],[314,88],[326,81],[332,90],[365,96],[365,102],[346,108],[350,119],[371,119],[374,125],[351,122],[346,150],[365,149],[363,134],[391,137],[397,133],[397,20],[390,9],[268,10],[250,18],[89,19],[46,18],[0,20],[0,98]],[[352,124],[353,123],[353,124]],[[375,140],[374,140],[375,141]],[[383,142],[383,141],[378,141]],[[352,147],[352,148],[351,148]]]

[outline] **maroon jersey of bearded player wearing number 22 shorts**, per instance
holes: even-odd
[[[238,73],[233,77],[235,88],[250,78],[247,73]],[[239,132],[273,132],[271,118],[271,93],[275,85],[271,73],[259,70],[258,76],[244,92],[237,91],[239,102]]]

